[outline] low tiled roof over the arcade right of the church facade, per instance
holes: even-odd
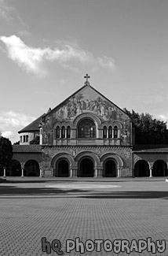
[[[134,153],[168,153],[168,144],[166,145],[135,145]]]

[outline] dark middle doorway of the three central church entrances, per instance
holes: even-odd
[[[89,158],[85,158],[80,163],[80,175],[81,177],[93,177],[93,161]]]

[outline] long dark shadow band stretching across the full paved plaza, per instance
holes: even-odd
[[[51,196],[73,197],[73,198],[108,198],[108,199],[148,199],[148,198],[165,198],[168,199],[168,191],[90,191],[86,189],[60,189],[57,187],[14,187],[1,186],[0,195],[5,195],[7,198],[16,198],[15,196],[30,195],[34,198],[35,195],[46,195],[47,198]],[[3,198],[3,197],[1,197]],[[25,197],[27,198],[27,197]],[[43,198],[43,197],[42,197]]]

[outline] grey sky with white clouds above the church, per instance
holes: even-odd
[[[121,109],[168,121],[167,0],[0,0],[0,132],[89,83]]]

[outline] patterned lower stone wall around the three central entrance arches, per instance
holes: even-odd
[[[132,150],[131,147],[42,147],[42,168],[56,168],[59,158],[66,158],[70,169],[78,169],[81,158],[90,157],[94,161],[95,169],[103,169],[104,160],[114,159],[119,176],[132,176]]]

